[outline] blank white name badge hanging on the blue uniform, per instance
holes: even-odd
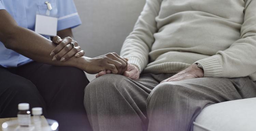
[[[57,35],[58,18],[43,15],[37,15],[35,19],[35,32],[41,35]]]

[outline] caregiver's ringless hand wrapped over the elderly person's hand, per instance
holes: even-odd
[[[127,60],[116,53],[108,53],[95,58],[86,57],[86,61],[87,64],[84,66],[85,69],[83,70],[89,74],[109,70],[113,74],[122,75],[127,70]]]

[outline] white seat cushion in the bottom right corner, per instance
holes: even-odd
[[[204,108],[194,122],[194,131],[256,131],[256,98]]]

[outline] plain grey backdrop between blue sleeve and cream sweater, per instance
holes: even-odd
[[[120,53],[145,0],[74,0],[83,24],[73,29],[85,55]]]

